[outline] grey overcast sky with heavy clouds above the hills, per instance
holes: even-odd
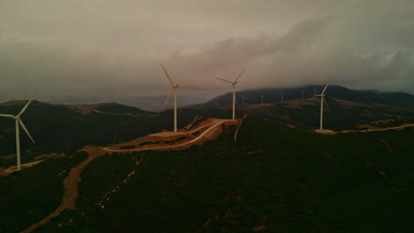
[[[161,95],[160,63],[199,101],[332,83],[414,94],[412,0],[3,0],[0,99]]]

